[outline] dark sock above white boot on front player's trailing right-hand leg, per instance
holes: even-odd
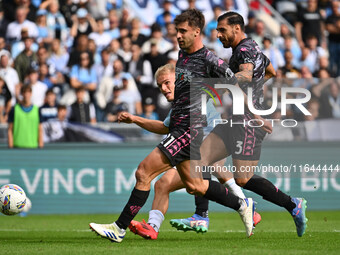
[[[219,182],[210,180],[208,190],[203,197],[234,210],[240,209],[240,198],[229,192]]]

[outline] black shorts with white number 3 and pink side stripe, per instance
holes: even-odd
[[[212,133],[218,135],[233,159],[257,161],[261,156],[263,138],[267,132],[260,127],[236,124],[230,122],[217,125]]]

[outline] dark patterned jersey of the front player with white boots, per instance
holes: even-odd
[[[206,47],[188,54],[179,52],[176,64],[175,98],[172,102],[170,130],[204,126],[201,116],[201,88],[206,88],[200,79],[224,78],[226,84],[236,84],[237,79],[229,66]]]

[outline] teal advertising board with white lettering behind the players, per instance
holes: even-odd
[[[119,213],[134,187],[134,171],[155,145],[50,144],[41,150],[2,147],[0,185],[21,186],[32,201],[32,214]],[[309,210],[339,210],[339,148],[340,143],[267,142],[258,168],[279,189],[305,197]],[[229,165],[230,160],[226,167]],[[245,194],[258,202],[259,211],[283,210],[254,193]],[[194,212],[194,197],[185,190],[170,198],[169,211]],[[153,192],[144,212],[151,209],[152,199]],[[209,208],[226,210],[214,202]]]

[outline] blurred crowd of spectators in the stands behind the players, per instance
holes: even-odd
[[[178,7],[183,1],[154,0],[159,8],[152,13],[152,24],[127,7],[133,1],[2,0],[0,123],[7,122],[10,109],[22,99],[23,86],[32,88],[31,101],[44,121],[115,122],[120,111],[164,119],[170,105],[160,95],[154,73],[176,63],[173,20],[178,8],[173,10],[175,2]],[[200,9],[202,1],[184,2],[183,8]],[[340,118],[339,83],[332,79],[340,76],[340,1],[268,1],[288,24],[272,19],[256,0],[207,2],[217,3],[202,35],[209,49],[229,60],[231,49],[216,37],[216,20],[225,11],[239,11],[247,36],[277,71],[270,85],[309,89],[309,119]],[[276,23],[276,33],[268,18]]]

